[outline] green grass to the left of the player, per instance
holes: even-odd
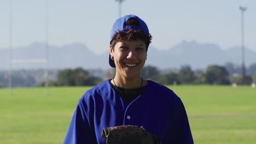
[[[88,87],[0,89],[0,143],[62,143]]]

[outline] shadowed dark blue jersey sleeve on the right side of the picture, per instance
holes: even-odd
[[[191,144],[194,143],[193,137],[191,134],[189,121],[187,112],[185,110],[185,107],[182,103],[182,100],[179,99],[178,107],[177,107],[177,137],[176,137],[176,143],[186,143]]]

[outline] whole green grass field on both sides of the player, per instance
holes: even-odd
[[[169,86],[183,100],[195,143],[256,143],[256,88]],[[62,143],[89,87],[0,88],[0,143]]]

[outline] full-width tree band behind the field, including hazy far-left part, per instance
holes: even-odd
[[[256,83],[256,63],[246,69],[246,84]],[[112,79],[115,69],[85,70],[83,68],[49,71],[49,86],[95,86]],[[143,79],[153,80],[162,85],[241,85],[241,67],[232,63],[209,65],[206,69],[193,70],[189,65],[179,69],[158,69],[146,65],[141,75]],[[15,70],[12,76],[13,87],[44,86],[44,70]],[[8,71],[0,71],[0,87],[8,87]]]

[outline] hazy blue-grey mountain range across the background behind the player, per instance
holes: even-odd
[[[92,52],[84,44],[74,43],[63,46],[49,45],[49,69],[65,69],[83,67],[84,69],[109,69],[106,50],[101,54]],[[45,44],[33,43],[12,49],[13,59],[36,59],[45,57]],[[166,50],[158,50],[149,46],[146,65],[160,69],[179,68],[190,65],[193,69],[204,69],[210,64],[224,65],[227,62],[241,64],[241,47],[221,49],[217,44],[199,44],[196,41],[182,41]],[[0,47],[0,69],[9,68],[9,49]],[[246,65],[256,63],[256,52],[245,49]],[[44,68],[44,63],[16,63],[13,69]]]

